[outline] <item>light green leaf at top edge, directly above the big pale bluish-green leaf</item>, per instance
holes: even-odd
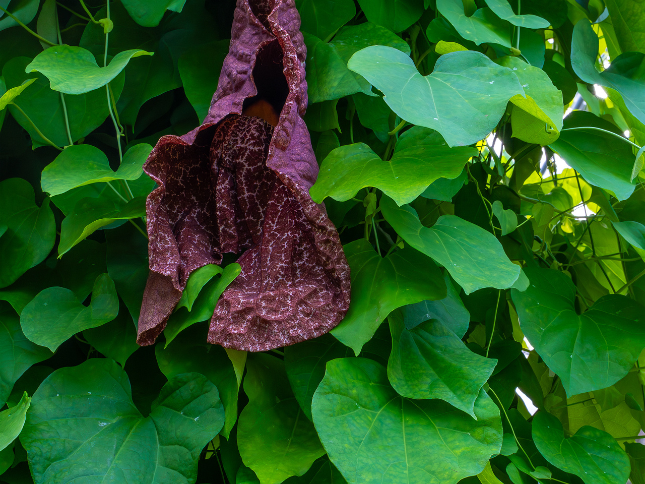
[[[477,45],[488,42],[508,48],[512,46],[510,23],[493,14],[490,8],[480,8],[472,15],[466,16],[461,0],[437,0],[437,10],[464,39]]]

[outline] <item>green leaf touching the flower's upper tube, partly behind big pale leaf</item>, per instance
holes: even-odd
[[[410,46],[401,37],[370,22],[341,28],[330,43],[310,34],[304,34],[304,41],[310,103],[339,99],[356,92],[374,96],[370,83],[347,68],[350,57],[364,47],[387,45],[410,54]]]

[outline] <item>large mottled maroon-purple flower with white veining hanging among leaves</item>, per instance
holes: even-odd
[[[335,327],[350,301],[350,268],[335,227],[309,188],[318,174],[303,121],[306,47],[293,0],[238,0],[230,50],[204,124],[163,136],[144,171],[150,276],[137,343],[166,325],[190,273],[241,253],[208,342],[264,351]],[[258,99],[275,127],[244,116]],[[253,111],[255,112],[255,111]],[[275,121],[273,121],[275,122]]]

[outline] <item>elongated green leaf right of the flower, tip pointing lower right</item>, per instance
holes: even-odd
[[[520,267],[493,234],[473,223],[443,215],[431,228],[424,227],[410,205],[397,207],[385,196],[381,210],[404,241],[444,266],[466,294],[484,287],[505,289],[520,276]]]

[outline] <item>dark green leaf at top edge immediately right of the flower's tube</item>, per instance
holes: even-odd
[[[328,42],[336,31],[356,15],[353,0],[296,0],[301,30]]]

